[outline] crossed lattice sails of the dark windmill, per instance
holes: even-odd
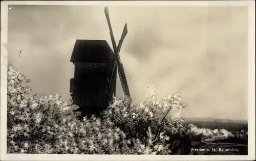
[[[128,84],[127,84],[127,79],[126,79],[126,76],[125,76],[123,64],[122,64],[122,62],[120,60],[120,56],[119,56],[119,52],[120,52],[122,42],[123,42],[125,36],[128,33],[127,32],[127,24],[125,23],[121,39],[118,43],[118,46],[116,46],[114,34],[113,34],[111,23],[110,23],[110,16],[109,16],[108,7],[105,7],[104,12],[105,12],[106,20],[108,21],[108,25],[109,25],[109,29],[110,29],[110,36],[111,36],[111,41],[112,41],[115,60],[116,60],[115,64],[117,64],[117,67],[118,67],[117,71],[118,71],[118,75],[120,77],[120,82],[121,82],[121,85],[122,85],[123,93],[124,93],[124,95],[130,97],[131,95],[130,95],[129,87],[128,87]]]

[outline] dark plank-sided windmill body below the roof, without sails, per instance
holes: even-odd
[[[110,95],[106,95],[106,75],[110,63],[84,63],[75,64],[74,78],[70,79],[70,93],[73,104],[82,108],[86,114],[96,114],[106,109],[116,94],[117,67],[114,69]],[[110,79],[110,78],[109,78]]]

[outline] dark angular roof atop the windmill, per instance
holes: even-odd
[[[106,40],[76,40],[70,62],[108,63],[113,57]]]

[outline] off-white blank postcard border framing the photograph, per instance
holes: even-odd
[[[248,155],[76,155],[6,154],[8,5],[248,6]],[[255,2],[254,1],[2,1],[1,2],[1,160],[253,160],[255,159]]]

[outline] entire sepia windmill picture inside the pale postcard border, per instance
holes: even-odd
[[[248,6],[49,4],[1,24],[7,154],[248,155]]]

